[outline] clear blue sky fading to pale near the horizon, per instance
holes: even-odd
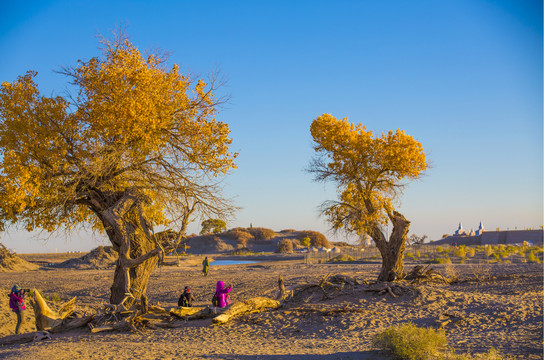
[[[318,213],[336,190],[304,172],[323,113],[423,144],[432,168],[400,206],[411,233],[542,225],[540,0],[1,1],[0,81],[36,70],[42,94],[63,95],[67,79],[54,70],[99,55],[96,35],[119,24],[141,51],[228,78],[218,119],[240,156],[225,189],[242,207],[228,227],[342,240]],[[0,241],[17,252],[107,244],[13,229]]]

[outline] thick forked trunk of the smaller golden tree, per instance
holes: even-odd
[[[404,250],[406,249],[406,235],[410,222],[396,211],[389,213],[389,219],[393,223],[393,231],[389,241],[377,226],[372,229],[370,234],[382,255],[382,268],[378,281],[403,279],[406,275],[404,272]]]

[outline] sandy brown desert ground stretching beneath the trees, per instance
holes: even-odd
[[[73,255],[74,256],[74,255]],[[28,256],[33,261],[63,261]],[[280,257],[246,265],[212,266],[203,277],[202,257],[185,258],[180,267],[156,269],[150,279],[151,303],[170,308],[184,286],[197,305],[207,305],[222,280],[232,284],[232,300],[269,295],[279,275],[286,286],[319,281],[330,274],[374,280],[378,263],[304,264],[300,258]],[[289,259],[289,260],[285,260]],[[271,261],[273,260],[273,261]],[[407,270],[410,269],[407,266]],[[191,320],[178,329],[145,334],[86,330],[53,334],[51,340],[0,347],[3,359],[386,359],[372,347],[372,337],[386,328],[412,321],[417,326],[443,326],[458,353],[484,353],[495,347],[517,359],[543,357],[542,264],[433,265],[461,281],[452,285],[420,285],[417,291],[393,298],[365,292],[363,286],[333,299],[308,296],[279,310],[246,315],[226,325],[210,319]],[[62,303],[77,296],[85,311],[107,303],[113,270],[74,270],[42,267],[27,272],[0,273],[7,295],[14,283],[38,288]],[[0,336],[13,334],[15,315],[7,296],[0,304]],[[32,310],[26,311],[23,331],[34,331]]]

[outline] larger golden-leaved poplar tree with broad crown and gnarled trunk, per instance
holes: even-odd
[[[122,33],[101,44],[60,71],[70,97],[42,96],[32,71],[2,83],[0,226],[105,231],[119,253],[110,302],[131,304],[168,251],[155,227],[175,227],[179,242],[195,216],[233,213],[218,184],[236,154],[215,119],[214,78],[143,56]]]

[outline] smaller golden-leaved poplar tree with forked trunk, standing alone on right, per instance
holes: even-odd
[[[382,256],[379,281],[403,278],[410,222],[395,205],[403,181],[419,178],[428,167],[421,143],[401,130],[374,136],[329,114],[312,122],[311,133],[316,156],[308,170],[316,181],[336,183],[339,192],[338,200],[323,204],[323,214],[335,230],[372,237]]]

